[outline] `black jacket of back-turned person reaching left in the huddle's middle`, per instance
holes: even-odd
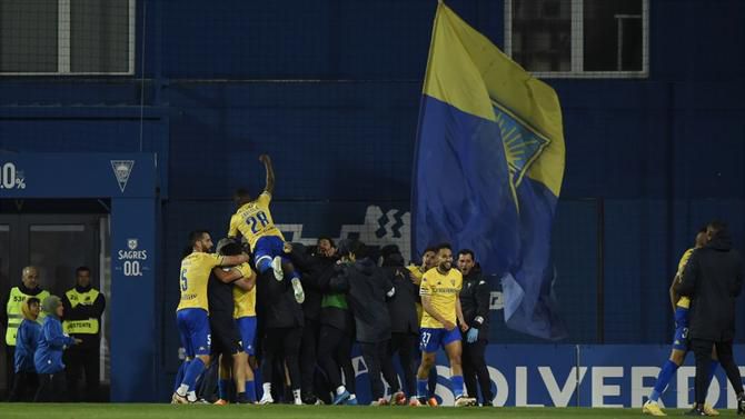
[[[386,295],[393,295],[394,286],[372,260],[365,258],[342,266],[329,286],[331,291],[347,293],[358,342],[377,343],[390,339]]]

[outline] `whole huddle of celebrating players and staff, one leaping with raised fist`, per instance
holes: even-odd
[[[381,252],[379,267],[358,240],[344,240],[335,247],[331,239],[324,238],[314,252],[306,252],[301,246],[286,243],[275,227],[269,211],[274,169],[268,156],[259,160],[267,173],[266,188],[255,200],[245,190],[236,192],[237,211],[230,219],[228,238],[218,242],[217,253],[210,252],[212,241],[207,231],[195,231],[189,237],[177,308],[186,360],[171,401],[197,402],[198,377],[210,361],[219,360],[217,403],[230,399],[257,402],[255,347],[259,319],[262,397],[258,403],[275,402],[279,389],[272,393],[272,382],[277,387],[272,377],[279,376],[289,381],[285,399],[296,405],[318,399],[357,405],[350,358],[356,341],[368,369],[372,405],[434,405],[429,381],[430,375],[436,375],[436,352],[443,347],[450,362],[454,405],[474,406],[477,399],[464,391],[463,338],[480,348],[479,362],[473,362],[466,371],[468,392],[477,393],[478,377],[484,405],[490,406],[490,380],[483,361],[485,331],[479,339],[479,329],[488,325],[486,282],[479,279],[468,283],[474,301],[467,303],[467,310],[461,308],[460,298],[464,276],[471,278],[468,275],[477,271],[474,253],[459,252],[458,270],[453,267],[453,250],[445,243],[427,249],[421,266],[408,268],[404,268],[395,247]],[[417,335],[420,361],[415,379]],[[404,369],[404,388],[393,367],[396,352]],[[315,371],[321,371],[325,378],[320,390],[314,385]],[[389,397],[385,396],[380,376],[390,388]]]

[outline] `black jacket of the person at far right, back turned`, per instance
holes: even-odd
[[[735,300],[743,286],[743,261],[726,231],[696,249],[676,286],[691,298],[688,336],[716,342],[735,338]]]

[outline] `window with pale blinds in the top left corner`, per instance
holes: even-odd
[[[135,0],[0,1],[0,74],[132,74]]]

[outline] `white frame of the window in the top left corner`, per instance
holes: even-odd
[[[2,76],[133,76],[135,74],[135,20],[137,0],[129,0],[129,58],[127,71],[70,71],[70,1],[57,0],[57,71],[0,72]]]

